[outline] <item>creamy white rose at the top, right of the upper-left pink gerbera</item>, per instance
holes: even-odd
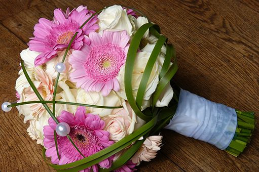
[[[98,19],[99,32],[108,29],[108,31],[126,30],[130,36],[133,33],[133,27],[130,23],[126,9],[123,10],[121,6],[114,5],[104,9],[98,15]]]

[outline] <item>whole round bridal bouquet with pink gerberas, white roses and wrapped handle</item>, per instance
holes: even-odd
[[[178,88],[174,47],[139,14],[79,6],[34,26],[21,52],[18,100],[2,109],[17,107],[58,171],[134,171],[156,157],[162,128],[234,156],[249,142],[254,113]]]

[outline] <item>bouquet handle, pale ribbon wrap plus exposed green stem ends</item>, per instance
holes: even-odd
[[[253,112],[237,111],[183,89],[178,98],[176,112],[165,128],[208,142],[234,156],[243,152],[254,129]]]

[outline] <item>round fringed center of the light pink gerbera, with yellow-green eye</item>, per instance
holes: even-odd
[[[106,82],[115,78],[120,67],[125,63],[124,50],[115,44],[105,44],[94,47],[85,62],[85,69],[89,78]]]

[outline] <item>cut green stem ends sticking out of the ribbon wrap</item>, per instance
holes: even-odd
[[[252,132],[255,126],[254,112],[242,112],[236,110],[237,113],[237,128],[233,140],[225,149],[226,152],[237,157],[242,153],[250,142]]]

